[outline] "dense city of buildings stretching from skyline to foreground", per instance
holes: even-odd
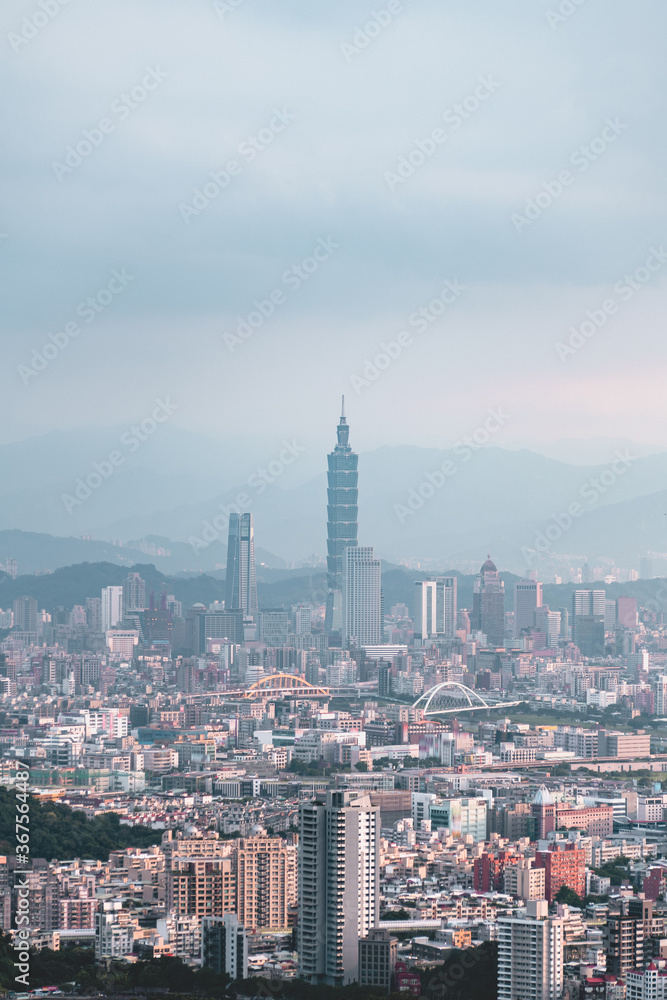
[[[169,959],[258,995],[436,997],[464,978],[502,1000],[663,996],[659,603],[582,579],[551,608],[537,571],[506,592],[488,556],[467,608],[457,572],[385,607],[358,465],[343,408],[310,602],[260,605],[237,510],[209,606],[133,570],[85,605],[3,612],[14,992],[109,991],[114,969],[117,991],[119,969]],[[48,954],[86,964],[31,981]]]

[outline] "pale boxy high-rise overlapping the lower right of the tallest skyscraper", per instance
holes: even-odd
[[[382,642],[380,560],[370,545],[349,545],[343,558],[343,641],[378,646]]]

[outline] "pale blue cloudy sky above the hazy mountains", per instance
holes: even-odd
[[[345,393],[358,450],[667,447],[664,0],[42,4],[0,13],[0,443],[168,398],[330,446]]]

